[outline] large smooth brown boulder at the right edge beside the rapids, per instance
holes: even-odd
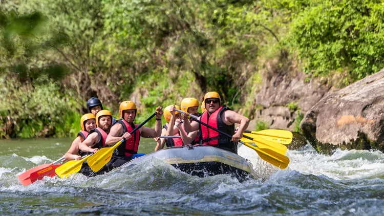
[[[318,152],[335,148],[384,150],[384,70],[330,92],[300,125]]]

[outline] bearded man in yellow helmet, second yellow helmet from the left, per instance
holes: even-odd
[[[101,110],[96,114],[97,127],[92,129],[86,140],[79,145],[80,156],[87,155],[89,153],[96,153],[99,148],[105,146],[105,140],[108,136],[112,124],[112,114],[108,110]],[[84,163],[81,167],[80,173],[85,176],[94,176],[98,174],[104,174],[108,172],[107,166],[101,168],[98,172],[93,172],[87,163]]]

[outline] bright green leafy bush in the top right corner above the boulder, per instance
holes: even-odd
[[[384,67],[381,1],[311,1],[292,20],[290,40],[314,76],[347,73],[352,81]]]

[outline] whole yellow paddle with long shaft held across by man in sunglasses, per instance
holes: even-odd
[[[181,111],[181,110],[178,110],[178,109],[175,109],[175,110],[178,111],[178,112],[180,112],[180,113],[186,113],[186,112]],[[189,115],[189,116],[192,117],[192,119],[193,119],[194,121],[197,121],[198,123],[200,123],[200,124],[202,124],[202,125],[204,125],[204,126],[206,126],[206,127],[209,127],[209,128],[211,128],[212,130],[214,130],[214,131],[216,131],[216,132],[219,132],[219,133],[221,133],[221,134],[223,134],[223,135],[225,135],[225,136],[227,136],[227,137],[232,137],[232,136],[230,136],[229,134],[226,134],[226,133],[224,133],[224,132],[221,132],[221,131],[219,131],[217,128],[212,127],[212,126],[210,126],[210,125],[208,125],[208,124],[206,124],[206,123],[204,123],[204,122],[198,120],[196,116],[193,116],[193,115]],[[247,139],[253,140],[252,138],[250,138],[250,137],[248,137],[248,136],[244,136],[244,137],[247,138]],[[284,168],[286,168],[286,167],[288,166],[288,164],[289,164],[289,158],[288,158],[287,156],[282,155],[282,154],[280,154],[280,153],[278,153],[278,152],[275,152],[275,151],[274,151],[273,149],[271,149],[271,148],[260,148],[260,147],[256,146],[254,143],[246,143],[246,142],[241,141],[241,140],[240,140],[240,143],[242,143],[242,144],[244,144],[245,146],[250,147],[250,148],[252,148],[253,150],[255,150],[256,153],[260,156],[261,159],[267,161],[268,163],[270,163],[270,164],[272,164],[272,165],[274,165],[274,166],[277,166],[277,167],[279,167],[279,168],[281,168],[281,169],[284,169]],[[276,144],[277,144],[277,143],[276,143]]]

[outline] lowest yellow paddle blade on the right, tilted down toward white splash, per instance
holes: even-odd
[[[261,159],[267,161],[268,163],[279,167],[281,169],[287,168],[289,164],[289,158],[285,155],[274,152],[269,148],[259,148],[257,146],[252,145],[252,143],[243,143],[243,145],[252,148],[258,153]]]

